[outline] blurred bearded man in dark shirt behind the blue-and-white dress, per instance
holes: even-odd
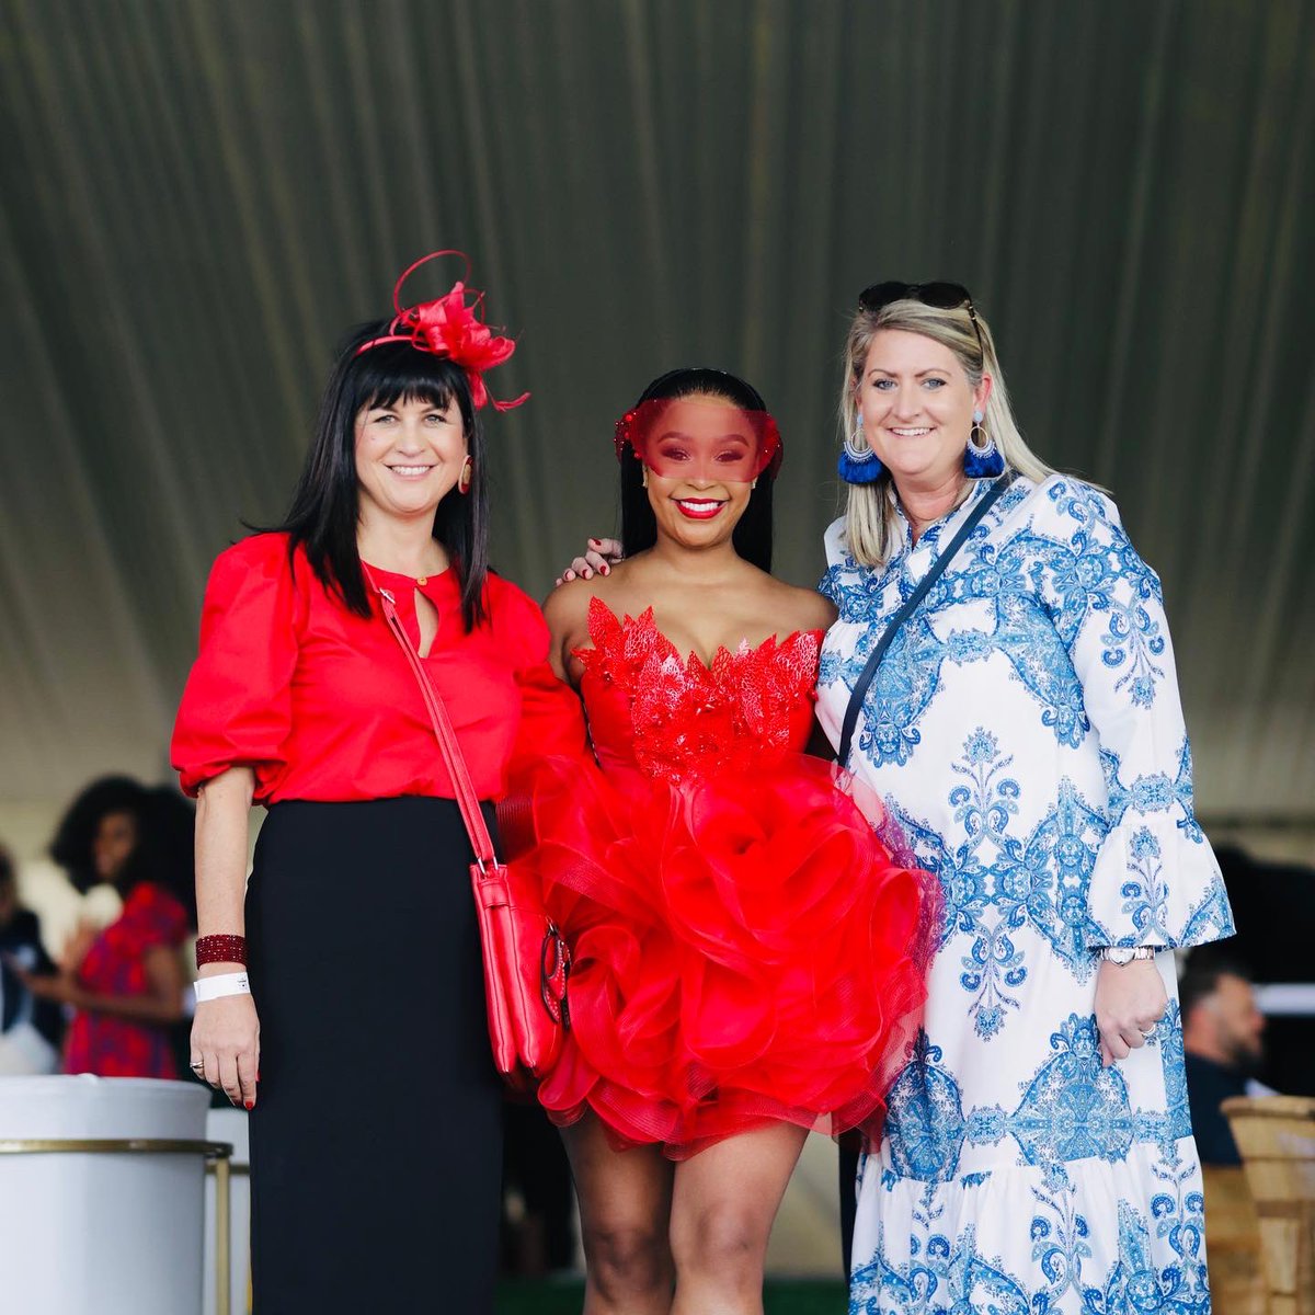
[[[1236,1165],[1237,1143],[1219,1106],[1232,1095],[1260,1094],[1255,1073],[1265,1057],[1265,1015],[1245,969],[1224,959],[1197,960],[1189,956],[1178,980],[1191,1134],[1202,1164]]]

